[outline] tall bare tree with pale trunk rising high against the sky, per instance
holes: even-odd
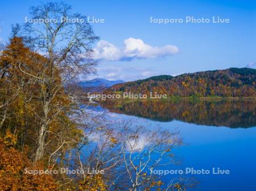
[[[76,93],[65,92],[64,87],[81,75],[94,72],[96,65],[92,59],[92,44],[98,37],[86,22],[86,16],[70,12],[71,7],[64,3],[31,7],[31,19],[35,22],[27,22],[21,30],[26,44],[46,57],[38,73],[32,74],[22,63],[19,65],[20,71],[39,83],[40,107],[43,112],[35,111],[41,121],[35,161],[44,155],[49,124],[67,108],[75,107]],[[43,22],[39,22],[42,19]],[[61,104],[56,101],[60,97]]]

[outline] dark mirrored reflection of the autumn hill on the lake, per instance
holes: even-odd
[[[232,101],[133,101],[107,100],[102,106],[114,113],[135,115],[155,121],[174,119],[208,126],[256,126],[255,99]]]

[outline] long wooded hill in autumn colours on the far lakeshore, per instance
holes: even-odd
[[[179,76],[153,76],[117,84],[105,93],[130,92],[147,94],[150,92],[181,97],[254,97],[256,96],[256,70],[251,68],[229,68],[181,74]]]

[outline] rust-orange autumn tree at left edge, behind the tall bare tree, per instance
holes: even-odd
[[[20,71],[19,65],[26,63],[27,69],[33,73],[42,69],[40,65],[34,63],[34,60],[39,58],[42,59],[42,56],[36,55],[24,47],[20,38],[11,39],[10,44],[0,56],[1,131],[4,134],[8,127],[13,132],[20,134],[19,141],[22,142],[20,146],[24,146],[25,130],[28,130],[30,124],[36,122],[36,119],[34,122],[29,120],[32,118],[32,111],[29,107],[34,99],[37,86],[34,79]]]

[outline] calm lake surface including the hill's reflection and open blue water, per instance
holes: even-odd
[[[93,106],[117,120],[134,120],[180,131],[184,146],[174,154],[181,164],[164,169],[209,170],[190,176],[199,182],[190,190],[255,190],[256,101],[255,99],[113,101]],[[219,174],[213,174],[221,169]],[[221,174],[222,172],[230,172]],[[168,182],[174,175],[165,175]]]

